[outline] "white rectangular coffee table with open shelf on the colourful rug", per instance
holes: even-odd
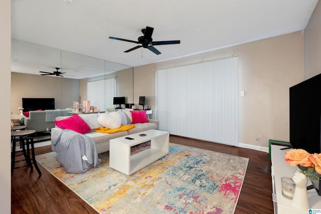
[[[146,136],[139,136],[146,134]],[[131,137],[128,140],[125,137]],[[130,156],[130,147],[146,141],[150,148]],[[124,137],[109,140],[109,166],[126,175],[130,175],[169,153],[170,133],[150,129]]]

